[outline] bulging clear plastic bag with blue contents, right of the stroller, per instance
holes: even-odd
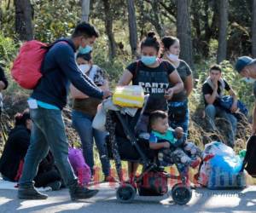
[[[210,189],[246,187],[244,173],[240,172],[242,159],[232,148],[213,141],[206,145],[204,153],[214,157],[201,165],[198,183]]]

